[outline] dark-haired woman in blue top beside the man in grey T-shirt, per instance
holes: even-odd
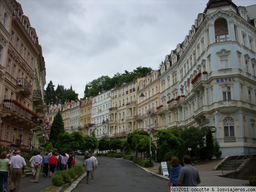
[[[172,186],[178,186],[177,182],[181,168],[182,166],[180,165],[179,159],[177,157],[172,157],[167,192],[170,191],[171,184]]]

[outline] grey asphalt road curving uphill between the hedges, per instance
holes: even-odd
[[[97,157],[95,178],[86,184],[84,178],[72,192],[163,192],[168,181],[145,172],[131,162]]]

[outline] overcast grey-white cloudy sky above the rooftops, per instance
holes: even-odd
[[[84,97],[101,76],[158,70],[182,43],[208,0],[17,0],[42,47],[46,85]],[[255,0],[233,0],[250,6]]]

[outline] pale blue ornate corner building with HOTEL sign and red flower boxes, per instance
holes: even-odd
[[[166,128],[214,126],[223,157],[256,151],[255,10],[209,0],[161,67]]]

